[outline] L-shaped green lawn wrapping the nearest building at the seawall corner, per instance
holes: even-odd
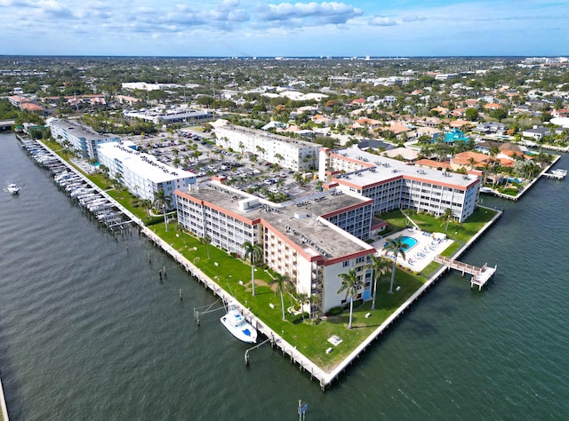
[[[164,224],[156,224],[151,229],[160,235],[172,247],[180,251],[182,255],[204,271],[210,278],[216,281],[221,288],[250,307],[253,314],[265,322],[272,330],[280,334],[291,345],[314,361],[325,370],[333,369],[346,356],[353,351],[381,322],[384,322],[398,306],[419,289],[425,282],[425,278],[397,270],[395,284],[401,289],[389,295],[389,275],[378,285],[378,297],[376,310],[371,311],[371,302],[354,308],[353,329],[347,329],[349,311],[338,316],[332,316],[319,322],[305,321],[292,324],[282,320],[280,297],[276,296],[274,286],[269,284],[271,277],[260,268],[255,272],[255,297],[252,297],[251,266],[241,260],[231,258],[227,252],[199,242],[195,237],[176,231],[175,226],[170,224],[168,232]],[[197,250],[194,250],[196,248]],[[219,266],[215,266],[215,262]],[[217,277],[217,278],[216,278]],[[243,282],[243,285],[239,283]],[[274,308],[271,308],[272,304]],[[288,295],[284,295],[284,306],[291,305]],[[365,314],[371,312],[372,316],[365,318]],[[339,346],[334,347],[333,353],[325,353],[332,346],[327,339],[337,335],[342,339]]]

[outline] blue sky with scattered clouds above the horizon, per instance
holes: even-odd
[[[569,55],[569,0],[0,0],[0,54]]]

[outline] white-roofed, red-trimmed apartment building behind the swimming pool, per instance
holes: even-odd
[[[325,188],[372,199],[374,214],[413,209],[440,216],[450,208],[459,222],[475,211],[480,189],[477,175],[418,168],[357,148],[322,148],[318,177]]]

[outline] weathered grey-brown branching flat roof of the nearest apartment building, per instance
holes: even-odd
[[[320,254],[326,259],[340,258],[358,251],[373,249],[372,246],[343,232],[340,228],[329,226],[332,224],[317,218],[320,215],[369,202],[369,200],[346,194],[322,192],[295,202],[272,203],[271,205],[257,196],[222,185],[200,184],[198,188],[199,191],[192,188],[191,192],[184,191],[184,193],[213,203],[244,218],[252,220],[263,218],[313,256]],[[259,204],[250,209],[241,210],[239,202],[243,199],[254,199],[259,201]]]

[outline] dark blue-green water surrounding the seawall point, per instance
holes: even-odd
[[[498,265],[487,288],[445,275],[325,393],[270,346],[247,368],[220,314],[194,322],[211,293],[136,231],[100,229],[4,133],[9,182],[22,186],[0,192],[12,420],[293,420],[299,399],[310,421],[569,419],[569,180],[517,203],[483,196],[505,213],[462,260]]]

